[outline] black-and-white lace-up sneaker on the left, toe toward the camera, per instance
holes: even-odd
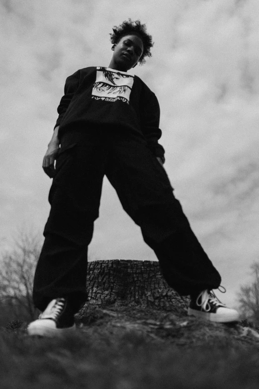
[[[66,299],[50,302],[39,318],[28,325],[29,335],[61,336],[75,330],[74,315]]]

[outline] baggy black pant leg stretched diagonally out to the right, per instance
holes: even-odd
[[[198,242],[163,166],[142,139],[118,134],[106,175],[124,210],[154,250],[165,280],[181,295],[216,289],[220,275]]]

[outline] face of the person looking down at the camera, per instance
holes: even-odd
[[[114,49],[112,63],[117,70],[127,72],[138,63],[143,54],[143,42],[137,35],[123,36]]]

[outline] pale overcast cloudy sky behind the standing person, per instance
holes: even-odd
[[[164,167],[233,305],[259,260],[258,0],[0,0],[1,244],[24,225],[42,233],[65,78],[108,67],[109,33],[129,17],[155,42],[129,73],[158,97]],[[89,254],[156,260],[106,178]]]

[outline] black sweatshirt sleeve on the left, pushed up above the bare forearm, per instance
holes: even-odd
[[[65,88],[64,88],[64,96],[61,98],[60,105],[58,106],[58,120],[55,124],[54,130],[57,126],[61,124],[63,116],[65,115],[65,111],[72,100],[72,97],[78,87],[79,84],[79,71],[75,72],[71,76],[67,77],[65,80]]]

